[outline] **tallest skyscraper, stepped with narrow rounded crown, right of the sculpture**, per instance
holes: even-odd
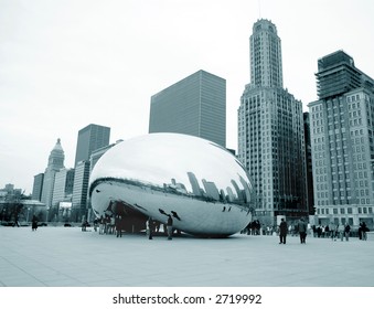
[[[238,159],[256,191],[255,215],[307,215],[302,103],[282,88],[280,39],[268,20],[253,26],[250,84],[238,108]]]

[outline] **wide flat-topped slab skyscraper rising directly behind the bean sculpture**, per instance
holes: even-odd
[[[185,134],[226,147],[226,81],[197,71],[153,95],[149,132]]]

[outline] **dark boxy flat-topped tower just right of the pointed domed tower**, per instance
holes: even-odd
[[[110,128],[99,125],[88,125],[78,131],[76,143],[75,164],[79,161],[89,161],[89,156],[94,150],[108,146]]]

